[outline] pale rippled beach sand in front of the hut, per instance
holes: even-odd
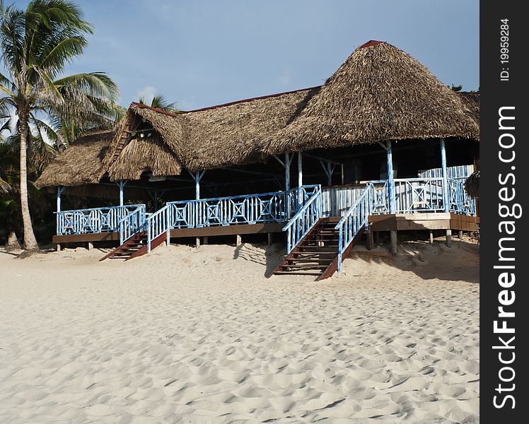
[[[1,423],[478,423],[477,248],[0,251]]]

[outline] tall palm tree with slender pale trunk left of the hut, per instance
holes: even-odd
[[[28,146],[32,131],[55,146],[65,143],[64,123],[77,129],[111,126],[117,86],[103,72],[64,76],[83,53],[92,26],[79,6],[65,0],[32,0],[25,11],[0,0],[0,118],[20,136],[20,199],[26,249],[37,248],[28,207]],[[44,146],[44,150],[46,150]]]

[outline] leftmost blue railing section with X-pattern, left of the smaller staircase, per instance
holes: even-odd
[[[55,212],[57,235],[118,231],[120,220],[138,208],[145,215],[145,205],[108,206]]]

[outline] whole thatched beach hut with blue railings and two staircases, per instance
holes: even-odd
[[[475,229],[463,183],[479,160],[478,117],[477,95],[370,41],[322,86],[179,113],[132,103],[114,131],[74,143],[37,184],[119,187],[120,204],[105,209],[58,201],[57,244],[119,240],[107,256],[132,258],[172,237],[284,232],[275,271],[325,278],[364,233],[372,245],[389,231],[395,251],[398,230],[445,230],[450,244],[452,230]],[[151,211],[127,204],[141,196],[156,199]]]

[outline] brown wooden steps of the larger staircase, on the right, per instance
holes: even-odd
[[[339,219],[320,218],[272,274],[315,276],[316,281],[332,276],[338,269],[339,231],[335,230],[335,225]],[[364,228],[356,234],[345,250],[343,259],[351,252],[363,232]]]

